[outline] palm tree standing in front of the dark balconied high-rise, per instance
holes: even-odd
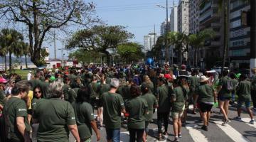
[[[210,40],[210,38],[214,38],[214,36],[215,31],[213,31],[211,28],[206,28],[199,33],[188,35],[188,44],[191,45],[195,53],[195,58],[193,60],[194,66],[198,65],[199,48],[203,48],[206,40]]]

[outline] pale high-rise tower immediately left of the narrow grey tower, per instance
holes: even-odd
[[[189,33],[189,2],[180,0],[178,2],[178,32]]]

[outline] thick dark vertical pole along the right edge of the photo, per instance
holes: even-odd
[[[250,1],[250,68],[256,67],[256,1],[251,0]],[[250,75],[252,75],[252,72],[250,72]]]

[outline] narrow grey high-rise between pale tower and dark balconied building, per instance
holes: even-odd
[[[189,33],[198,33],[199,31],[199,0],[189,1]]]

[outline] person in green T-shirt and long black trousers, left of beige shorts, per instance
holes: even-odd
[[[156,89],[156,99],[158,100],[159,107],[157,108],[157,126],[159,132],[159,141],[162,140],[162,119],[164,119],[164,135],[168,136],[168,122],[169,114],[171,109],[170,96],[169,96],[169,87],[166,84],[164,77],[159,77],[158,85]]]

